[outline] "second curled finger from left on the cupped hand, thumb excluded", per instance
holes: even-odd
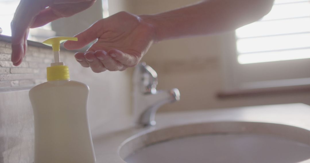
[[[104,51],[97,51],[98,52],[104,52]],[[105,70],[107,70],[104,65],[99,61],[99,59],[95,56],[94,52],[86,52],[85,53],[85,59],[89,66],[91,67],[91,70],[95,73],[101,73]]]

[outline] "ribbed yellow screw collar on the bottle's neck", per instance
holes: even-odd
[[[47,81],[55,80],[69,80],[69,67],[68,66],[51,66],[47,67]]]

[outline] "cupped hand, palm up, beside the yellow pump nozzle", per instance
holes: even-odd
[[[86,52],[76,53],[75,58],[83,67],[100,73],[137,65],[153,44],[155,32],[143,18],[119,12],[97,21],[74,37],[78,37],[78,41],[66,41],[65,48],[79,49],[98,39]]]

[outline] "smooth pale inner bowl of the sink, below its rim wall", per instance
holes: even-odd
[[[310,156],[310,146],[275,136],[203,135],[179,138],[143,148],[128,163],[295,163]]]

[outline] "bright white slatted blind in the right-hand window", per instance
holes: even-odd
[[[236,30],[239,64],[310,58],[310,0],[275,0],[257,22]]]

